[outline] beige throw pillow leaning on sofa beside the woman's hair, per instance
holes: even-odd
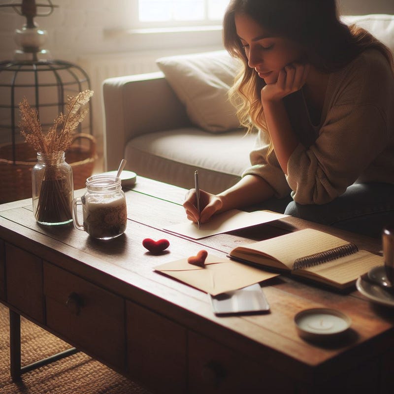
[[[195,125],[210,132],[239,127],[227,96],[239,63],[227,51],[170,56],[156,63]]]

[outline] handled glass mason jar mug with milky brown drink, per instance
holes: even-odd
[[[93,175],[86,180],[86,192],[72,203],[74,227],[97,239],[112,239],[123,234],[127,226],[126,196],[121,179],[110,175]],[[83,225],[78,222],[77,205],[82,205]]]

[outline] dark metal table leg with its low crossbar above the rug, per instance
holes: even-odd
[[[40,366],[64,359],[78,353],[76,348],[67,349],[32,364],[21,366],[21,316],[9,310],[9,344],[10,344],[10,371],[12,380],[20,380],[23,373],[32,371]]]

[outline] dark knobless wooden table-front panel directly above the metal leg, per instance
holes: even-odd
[[[7,302],[44,323],[41,259],[5,243],[5,278]]]

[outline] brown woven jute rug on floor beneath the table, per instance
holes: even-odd
[[[21,318],[22,365],[31,364],[71,346]],[[9,372],[9,315],[0,304],[1,394],[149,394],[140,386],[84,353],[45,365],[22,375],[19,383]]]

